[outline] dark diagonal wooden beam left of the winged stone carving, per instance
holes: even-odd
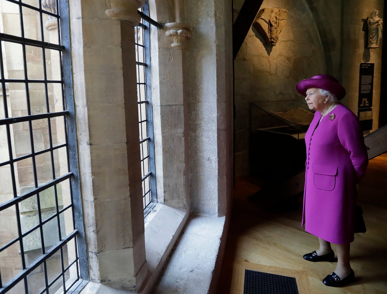
[[[233,60],[238,54],[248,30],[262,5],[263,0],[245,0],[233,25]]]

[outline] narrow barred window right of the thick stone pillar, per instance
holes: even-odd
[[[152,24],[157,28],[162,28],[162,25],[149,17],[147,1],[139,10],[139,15],[141,16],[141,22],[135,28],[135,49],[140,131],[140,162],[142,172],[142,204],[145,217],[157,203],[151,101],[149,25]]]

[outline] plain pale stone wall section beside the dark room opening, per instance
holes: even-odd
[[[232,163],[231,3],[185,6],[193,28],[186,49],[191,206],[195,213],[224,215]]]

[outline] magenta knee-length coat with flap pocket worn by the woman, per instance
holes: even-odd
[[[319,124],[320,118],[316,112],[305,134],[301,226],[325,241],[346,244],[354,238],[356,184],[368,165],[367,150],[358,118],[347,107],[337,105]]]

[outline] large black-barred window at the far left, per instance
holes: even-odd
[[[2,1],[0,294],[67,293],[88,279],[68,7],[35,3]]]

